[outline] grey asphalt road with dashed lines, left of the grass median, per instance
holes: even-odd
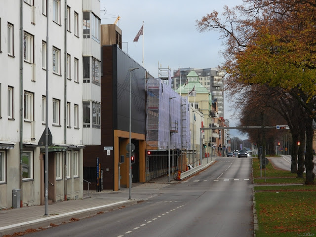
[[[148,201],[26,236],[252,237],[250,176],[250,158],[218,158]]]

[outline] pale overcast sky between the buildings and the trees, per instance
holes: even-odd
[[[222,40],[215,31],[199,33],[196,20],[213,10],[223,11],[242,0],[101,0],[101,24],[117,25],[122,30],[123,49],[158,78],[158,63],[171,72],[181,68],[216,68],[223,63],[219,51]],[[144,36],[133,42],[144,21]],[[234,110],[225,102],[225,118],[236,126]],[[230,133],[239,136],[236,130]]]

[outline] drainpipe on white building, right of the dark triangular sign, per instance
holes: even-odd
[[[64,85],[64,144],[67,144],[67,69],[68,69],[68,65],[67,65],[67,0],[65,0],[65,12],[64,12],[64,15],[65,15],[65,22],[64,22],[64,75],[65,75],[65,85]],[[70,62],[69,62],[69,65]],[[69,69],[70,70],[70,69]],[[70,72],[69,72],[70,73]],[[70,108],[69,108],[70,109]],[[70,118],[69,118],[70,119]],[[64,195],[65,195],[65,198],[64,200],[66,201],[67,200],[67,165],[70,165],[70,164],[67,164],[67,159],[66,159],[66,154],[67,152],[64,151],[64,175],[65,175],[65,179],[64,179]]]

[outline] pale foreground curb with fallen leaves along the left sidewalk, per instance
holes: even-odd
[[[3,237],[5,235],[14,235],[15,233],[24,232],[28,229],[47,229],[51,226],[61,225],[72,221],[77,221],[77,219],[84,219],[87,217],[95,216],[101,214],[102,212],[107,212],[115,209],[124,208],[126,206],[131,206],[137,204],[137,202],[138,200],[119,201],[119,203],[111,203],[103,206],[96,206],[92,208],[78,210],[75,212],[64,213],[61,215],[47,216],[41,219],[3,227],[0,228],[0,237]]]

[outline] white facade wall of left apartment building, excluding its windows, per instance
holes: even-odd
[[[46,42],[46,19],[42,12],[42,3],[46,0],[34,0],[34,5],[23,3],[23,31],[27,33],[31,40],[31,60],[23,60],[23,84],[20,83],[20,1],[4,1],[0,8],[0,153],[4,154],[4,179],[0,180],[0,209],[12,206],[12,190],[22,189],[22,205],[40,205],[43,204],[43,167],[44,167],[44,146],[39,144],[40,137],[45,130],[45,121],[42,121],[42,109],[45,103],[42,103],[42,96],[46,95],[46,70],[42,67],[42,42]],[[33,2],[33,1],[32,1]],[[56,184],[54,188],[50,187],[49,192],[53,194],[53,201],[64,199],[75,199],[82,197],[83,189],[83,69],[82,69],[82,22],[83,22],[83,2],[85,5],[95,9],[95,15],[100,15],[99,0],[67,0],[70,7],[70,29],[65,36],[65,1],[60,0],[59,4],[59,22],[53,21],[53,2],[49,1],[48,9],[48,127],[52,134],[52,148],[49,152],[50,165],[55,164],[53,155],[63,145],[71,153],[70,177],[65,180],[66,152],[62,153],[61,179],[55,179],[56,167],[49,167],[49,182]],[[74,14],[78,13],[78,36],[75,36]],[[8,55],[7,27],[8,23],[13,26],[13,53]],[[67,24],[66,24],[67,25]],[[65,48],[65,37],[67,46]],[[47,46],[47,44],[46,44]],[[58,63],[59,70],[53,72],[53,47],[59,50]],[[90,45],[91,52],[95,53],[95,58],[100,60],[100,43]],[[65,52],[70,55],[70,77],[67,78],[67,68],[65,65]],[[23,52],[23,48],[22,48]],[[44,50],[44,54],[46,51]],[[75,79],[75,58],[78,60],[78,77]],[[45,60],[44,60],[45,61]],[[46,62],[46,61],[45,61]],[[67,62],[67,57],[66,57]],[[66,68],[65,68],[66,67]],[[66,74],[66,75],[65,75]],[[8,116],[8,87],[13,88],[13,116]],[[66,88],[66,93],[65,93]],[[31,178],[21,182],[20,176],[20,109],[24,112],[24,100],[21,101],[24,92],[30,95],[30,107],[32,112],[29,119],[22,118],[23,132],[23,152],[31,152]],[[95,94],[100,94],[94,91]],[[90,97],[91,98],[91,97]],[[96,97],[101,101],[100,95]],[[53,123],[53,99],[59,100],[58,123]],[[67,110],[67,102],[70,103],[70,111]],[[78,118],[75,126],[75,105],[78,108]],[[66,108],[66,113],[65,113]],[[23,115],[22,112],[22,115]],[[67,116],[70,115],[70,124],[67,122]],[[68,124],[67,124],[68,123]],[[65,134],[66,131],[66,134]],[[92,128],[90,128],[92,131]],[[100,134],[100,133],[99,133]],[[100,140],[100,138],[99,138]],[[14,148],[8,149],[3,144],[15,144]],[[57,148],[56,148],[57,146]],[[55,149],[55,150],[53,150]],[[56,150],[57,149],[57,150]],[[75,170],[74,157],[78,157],[78,170]],[[74,177],[74,174],[77,174]],[[22,186],[21,186],[22,183]],[[67,187],[67,188],[66,188]]]

